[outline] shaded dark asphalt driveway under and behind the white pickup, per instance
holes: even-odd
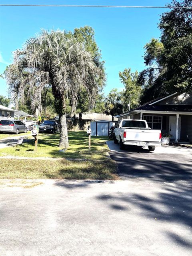
[[[192,180],[192,149],[180,146],[156,147],[155,151],[138,147],[120,150],[113,141],[107,142],[110,156],[118,164],[122,179],[149,178],[174,182]]]

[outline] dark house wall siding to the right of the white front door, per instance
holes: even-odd
[[[186,141],[188,135],[189,142],[192,142],[192,116],[181,116],[181,140]]]

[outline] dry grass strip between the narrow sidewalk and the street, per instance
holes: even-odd
[[[104,161],[1,159],[0,163],[1,179],[118,179],[115,163],[111,159]]]

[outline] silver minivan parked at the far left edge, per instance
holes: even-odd
[[[0,132],[8,132],[18,134],[19,132],[27,132],[25,124],[20,120],[0,120]]]

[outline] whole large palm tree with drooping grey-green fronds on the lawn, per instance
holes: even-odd
[[[22,99],[28,87],[31,107],[41,109],[42,93],[51,87],[55,107],[60,116],[60,147],[68,147],[66,99],[70,96],[72,110],[77,94],[85,88],[90,106],[98,93],[98,80],[104,79],[102,63],[64,31],[45,31],[30,38],[21,50],[14,52],[14,62],[6,70],[10,94],[14,102]]]

